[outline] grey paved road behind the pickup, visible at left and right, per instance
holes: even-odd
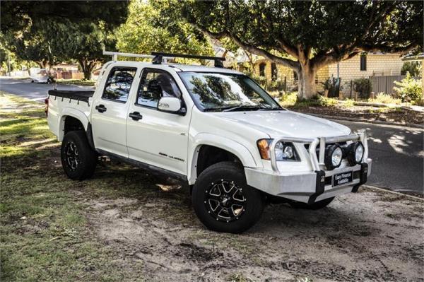
[[[10,78],[0,78],[0,90],[42,101],[52,86],[30,83]],[[62,86],[61,90],[86,90],[80,86]],[[367,184],[388,188],[399,192],[424,193],[424,130],[409,127],[369,124],[363,122],[344,122],[351,129],[365,128],[370,140],[372,175]]]

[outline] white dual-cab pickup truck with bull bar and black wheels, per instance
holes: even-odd
[[[206,67],[166,56],[110,61],[92,92],[49,91],[68,177],[91,177],[99,155],[165,173],[191,189],[207,228],[229,233],[254,225],[267,200],[323,208],[367,181],[365,131],[285,110],[220,58]]]

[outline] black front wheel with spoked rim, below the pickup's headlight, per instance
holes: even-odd
[[[261,193],[249,187],[243,168],[220,162],[206,168],[194,184],[194,211],[208,229],[242,233],[257,223],[264,210]]]

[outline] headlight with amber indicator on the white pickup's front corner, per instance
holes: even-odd
[[[261,139],[257,141],[259,153],[261,158],[264,160],[270,160],[271,155],[269,152],[269,146],[273,139]],[[289,142],[278,142],[275,147],[276,160],[300,160],[298,152],[296,152],[293,143]]]

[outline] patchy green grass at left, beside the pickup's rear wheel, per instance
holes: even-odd
[[[43,105],[0,93],[0,106],[0,281],[139,280],[141,262],[128,271],[91,234],[77,199],[93,182],[64,177]]]

